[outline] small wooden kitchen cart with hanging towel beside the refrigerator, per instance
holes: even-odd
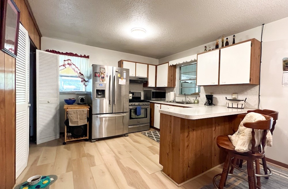
[[[89,105],[77,105],[77,104],[73,104],[73,105],[64,105],[64,109],[65,109],[65,120],[68,119],[68,110],[69,109],[87,109],[87,117],[89,117]],[[63,144],[65,145],[66,142],[68,141],[73,141],[73,140],[82,140],[84,139],[85,141],[88,141],[89,139],[89,122],[87,122],[87,135],[85,137],[73,137],[73,136],[67,136],[67,126],[65,124],[65,142],[63,142]]]

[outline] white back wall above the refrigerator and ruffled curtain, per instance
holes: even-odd
[[[78,55],[89,55],[90,64],[101,64],[118,66],[119,60],[130,60],[149,64],[158,64],[158,59],[149,58],[139,55],[133,55],[129,53],[123,53],[119,51],[112,51],[108,49],[102,49],[98,47],[92,47],[88,45],[82,45],[78,43],[72,43],[68,41],[52,39],[48,37],[41,37],[41,50],[55,50],[60,52],[71,52]]]

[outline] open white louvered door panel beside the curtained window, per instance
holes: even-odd
[[[59,138],[59,55],[36,50],[37,144]]]

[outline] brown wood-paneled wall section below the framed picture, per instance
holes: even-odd
[[[15,184],[15,61],[14,57],[0,51],[0,183],[2,188],[13,188]]]

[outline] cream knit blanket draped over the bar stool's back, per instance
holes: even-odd
[[[244,119],[240,123],[237,132],[234,133],[233,135],[228,135],[232,144],[235,146],[235,151],[249,152],[251,150],[252,129],[244,127],[243,124],[246,122],[256,122],[259,120],[265,120],[265,117],[255,112],[247,113],[247,115],[244,117]],[[255,131],[255,147],[257,151],[258,145],[261,144],[263,130],[254,129],[254,131]],[[268,130],[267,132],[266,146],[272,146],[272,134],[270,130]]]

